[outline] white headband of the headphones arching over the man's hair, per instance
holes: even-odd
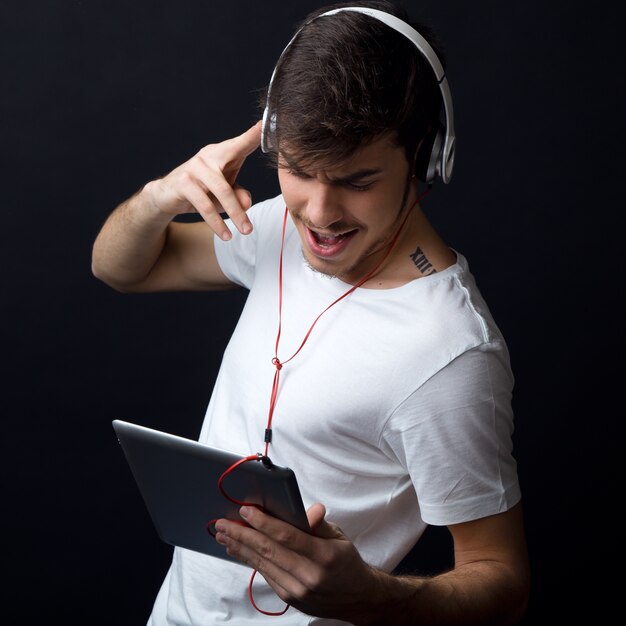
[[[444,183],[450,182],[450,178],[452,177],[452,169],[454,167],[454,148],[455,148],[455,140],[456,136],[454,133],[454,114],[452,108],[452,96],[450,93],[450,87],[448,85],[448,79],[446,78],[443,66],[437,57],[437,54],[433,50],[432,46],[426,41],[426,39],[420,35],[412,26],[404,22],[403,20],[397,18],[395,15],[391,15],[386,13],[385,11],[380,11],[378,9],[370,9],[367,7],[342,7],[339,9],[332,9],[330,11],[326,11],[325,13],[321,13],[316,17],[312,18],[301,28],[299,28],[294,36],[290,39],[289,43],[285,46],[282,51],[276,66],[274,67],[274,71],[272,72],[272,77],[270,78],[269,87],[267,90],[267,101],[265,110],[263,112],[263,130],[261,134],[261,149],[263,152],[269,152],[271,148],[271,142],[269,139],[269,135],[276,130],[276,114],[273,113],[270,115],[269,112],[269,99],[270,92],[272,89],[272,83],[274,82],[274,77],[276,75],[276,71],[280,65],[280,61],[289,48],[295,38],[300,34],[300,31],[308,26],[311,22],[316,19],[328,15],[335,15],[336,13],[341,13],[344,11],[352,11],[354,13],[362,13],[364,15],[369,15],[370,17],[386,24],[396,32],[404,35],[409,41],[411,41],[415,47],[419,50],[422,56],[428,61],[430,67],[432,68],[435,78],[437,80],[437,84],[439,85],[439,89],[441,91],[441,96],[443,100],[443,108],[445,115],[445,127],[443,132],[443,138],[440,138],[437,141],[435,139],[435,151],[436,154],[433,156],[436,158],[436,162],[432,164],[433,171],[432,175],[438,173]]]

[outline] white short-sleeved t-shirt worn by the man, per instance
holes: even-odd
[[[200,440],[262,452],[278,329],[281,196],[249,211],[251,235],[215,239],[220,267],[249,289]],[[520,499],[506,344],[466,260],[394,289],[357,289],[304,261],[290,218],[283,252],[283,362],[270,458],[291,467],[305,506],[322,502],[363,558],[391,571],[427,524],[506,511]],[[175,549],[150,626],[340,624],[290,608],[258,613],[251,570]],[[268,611],[284,604],[261,576]]]

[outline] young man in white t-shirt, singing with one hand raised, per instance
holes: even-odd
[[[252,570],[175,549],[149,624],[514,624],[529,573],[507,348],[418,202],[443,82],[397,28],[325,12],[281,56],[265,123],[147,183],[94,244],[94,274],[120,291],[249,290],[200,440],[267,446],[312,528],[249,507],[219,520]],[[251,206],[237,175],[261,142],[281,195]],[[174,221],[191,211],[204,221]],[[393,575],[428,524],[449,528],[454,567]]]

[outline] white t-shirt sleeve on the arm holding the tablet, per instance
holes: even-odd
[[[450,362],[388,420],[383,449],[407,469],[425,522],[470,521],[520,499],[512,390],[506,348],[487,344]]]

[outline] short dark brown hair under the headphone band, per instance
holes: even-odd
[[[419,142],[439,124],[441,92],[434,72],[404,35],[357,12],[313,19],[347,6],[379,9],[410,23],[440,55],[430,29],[411,23],[403,8],[384,0],[342,2],[309,14],[271,86],[274,163],[280,150],[303,168],[332,166],[385,135],[412,163]]]

